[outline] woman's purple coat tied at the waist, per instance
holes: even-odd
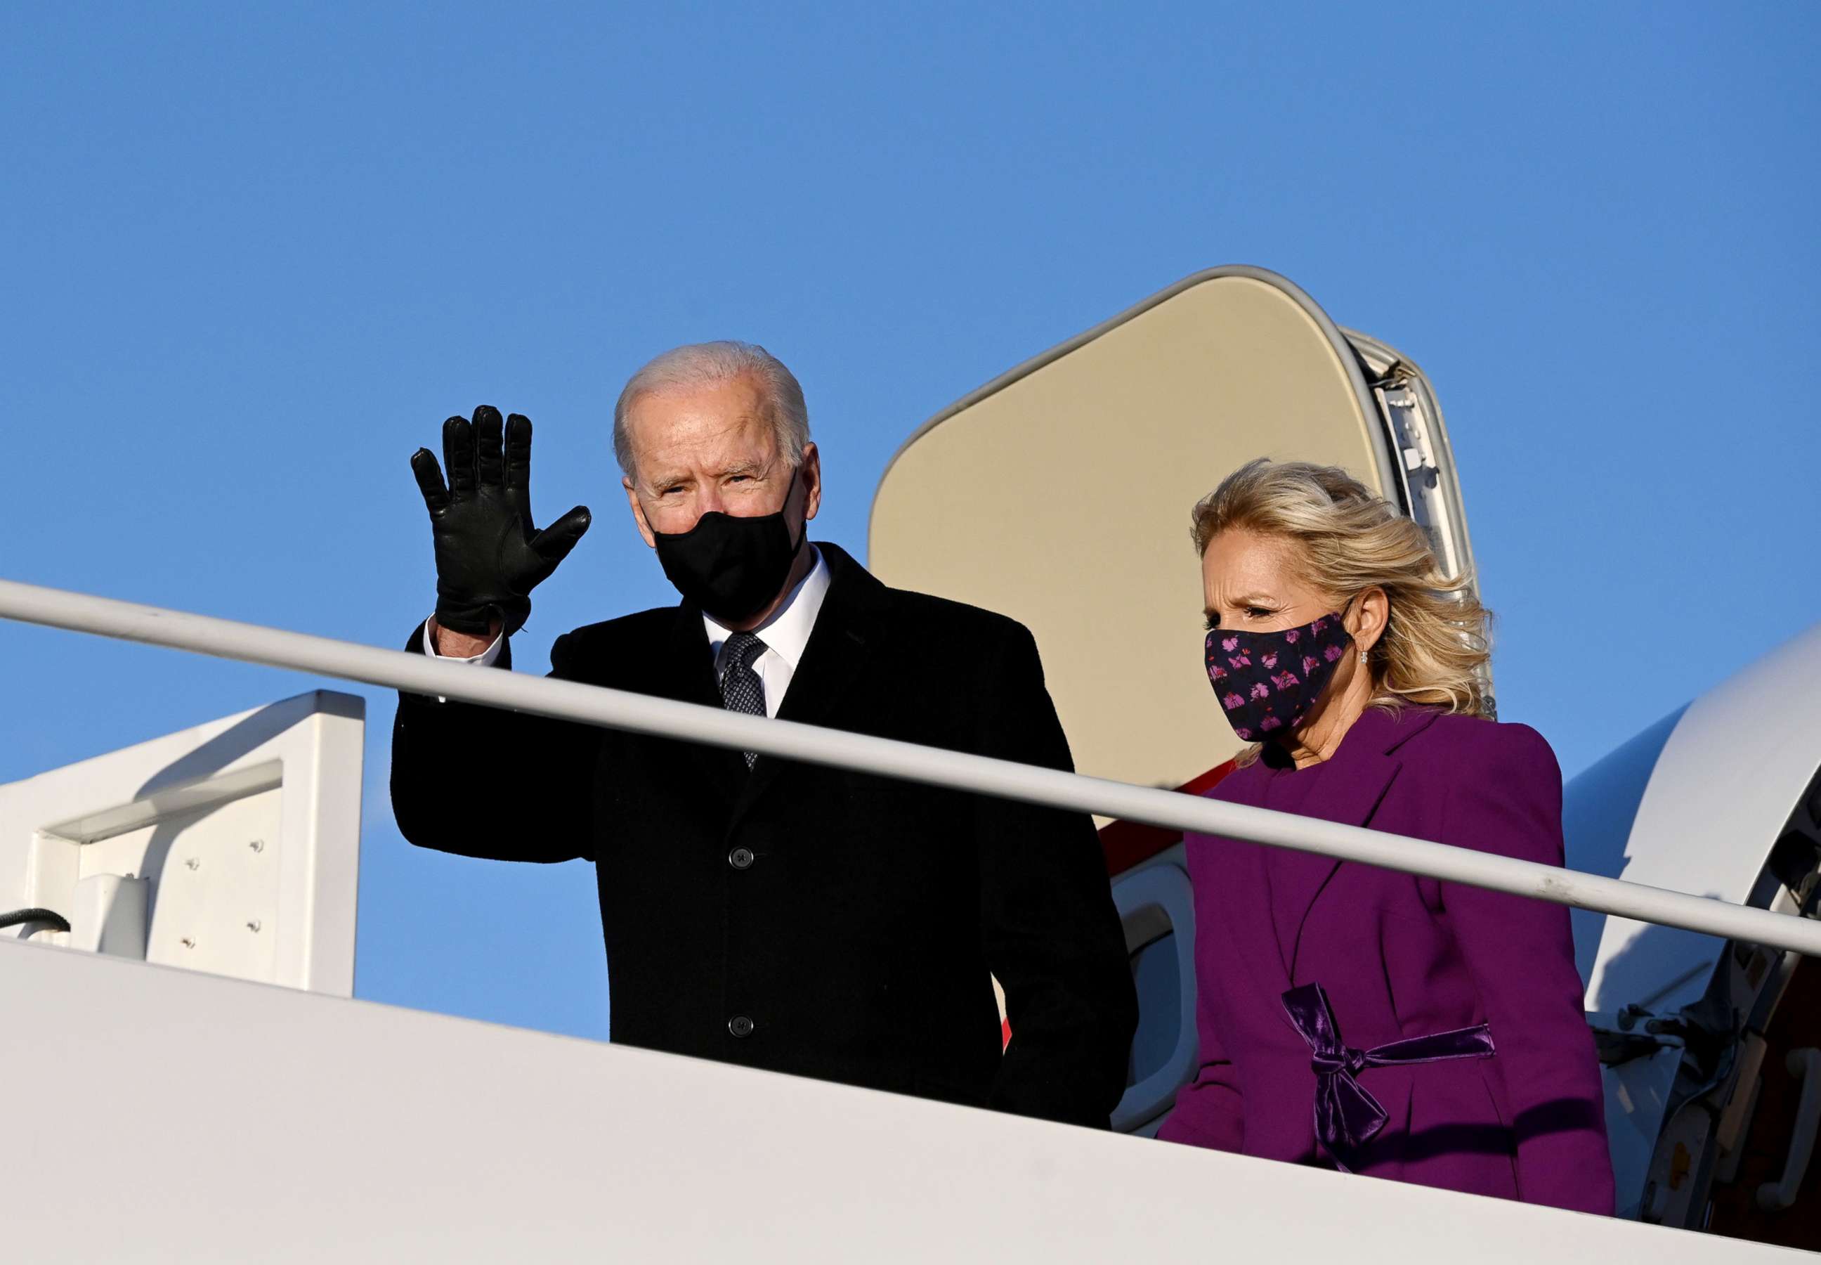
[[[1286,776],[1260,760],[1207,795],[1258,806]],[[1526,725],[1368,711],[1313,791],[1309,817],[1562,864],[1561,769]],[[1612,1214],[1564,906],[1209,835],[1189,835],[1187,855],[1202,1066],[1160,1137],[1331,1163],[1315,1136],[1311,1043],[1284,1004],[1293,986],[1320,984],[1353,1050],[1482,1023],[1493,1048],[1362,1070],[1355,1059],[1355,1085],[1388,1119],[1346,1167]],[[1333,1077],[1322,1085],[1333,1092]]]

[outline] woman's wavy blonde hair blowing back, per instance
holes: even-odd
[[[1195,507],[1195,550],[1227,530],[1287,541],[1302,578],[1344,611],[1384,589],[1389,618],[1371,647],[1373,707],[1431,704],[1491,718],[1491,612],[1470,576],[1444,576],[1428,534],[1333,465],[1247,461]]]

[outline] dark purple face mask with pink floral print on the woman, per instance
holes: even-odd
[[[1207,680],[1242,742],[1295,729],[1322,696],[1353,636],[1338,614],[1282,632],[1207,634]]]

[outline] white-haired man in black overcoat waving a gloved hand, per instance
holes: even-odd
[[[412,458],[437,560],[412,647],[510,667],[588,512],[534,527],[524,417],[443,443],[446,485]],[[821,463],[763,348],[659,355],[614,452],[683,602],[565,634],[554,676],[1071,767],[1029,631],[810,543]],[[1085,817],[415,694],[392,802],[424,848],[595,862],[615,1041],[1102,1128],[1120,1097],[1136,1003]]]

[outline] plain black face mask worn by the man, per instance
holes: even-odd
[[[796,472],[785,490],[785,507],[796,490]],[[809,523],[803,523],[805,532]],[[739,518],[710,510],[687,532],[652,532],[657,561],[670,583],[685,598],[723,623],[752,618],[778,596],[790,578],[790,563],[801,536],[792,545],[785,510]]]

